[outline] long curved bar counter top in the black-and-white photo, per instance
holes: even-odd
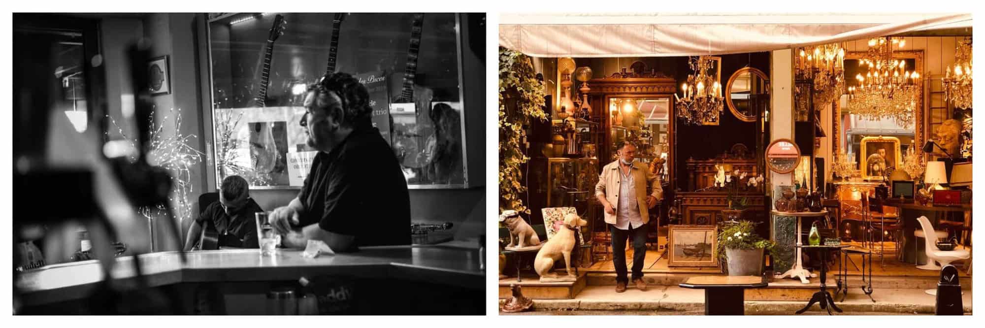
[[[479,268],[476,248],[439,245],[363,247],[358,252],[301,256],[299,249],[279,249],[275,257],[261,257],[257,249],[224,249],[185,253],[139,255],[149,287],[182,283],[297,281],[317,275],[351,276],[482,289],[485,272]],[[115,286],[138,284],[133,256],[119,257],[110,271]],[[102,281],[98,260],[45,266],[15,276],[24,305],[45,304],[90,295]]]

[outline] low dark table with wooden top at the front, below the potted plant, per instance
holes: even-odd
[[[746,289],[766,287],[766,277],[691,277],[679,286],[704,290],[705,315],[745,315]]]

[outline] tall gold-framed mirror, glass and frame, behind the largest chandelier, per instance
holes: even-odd
[[[862,51],[849,51],[845,54],[845,88],[854,87],[858,85],[856,75],[865,75],[868,68],[866,66],[861,66],[860,61],[865,57],[866,52]],[[924,52],[923,50],[917,51],[893,51],[893,58],[902,59],[906,63],[906,67],[913,67],[915,72],[920,73],[924,76]],[[918,83],[918,89],[923,91],[923,85],[925,78],[921,78]],[[890,166],[898,166],[900,161],[906,156],[906,153],[910,151],[910,146],[919,155],[920,147],[926,140],[924,135],[924,99],[925,95],[923,92],[917,93],[915,99],[915,105],[913,110],[913,119],[909,124],[900,124],[893,118],[882,118],[882,119],[867,119],[859,115],[855,115],[849,109],[849,102],[852,99],[848,95],[841,97],[837,105],[834,106],[834,110],[831,110],[832,118],[832,130],[836,133],[832,133],[833,138],[831,142],[833,143],[833,149],[835,154],[844,154],[848,161],[855,164],[854,176],[862,176],[863,178],[872,178],[875,175],[867,175],[867,157],[873,155],[873,152],[878,151],[865,151],[864,145],[862,143],[866,138],[895,138],[896,144],[893,148],[898,150],[895,152],[894,158],[897,160],[894,164],[889,164]],[[870,139],[873,140],[873,139]],[[888,149],[886,149],[888,152]],[[890,158],[891,160],[891,158]]]

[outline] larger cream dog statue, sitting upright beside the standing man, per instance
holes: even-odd
[[[573,282],[577,277],[571,271],[571,251],[576,247],[575,233],[580,227],[587,226],[588,222],[579,218],[576,214],[568,213],[564,215],[564,226],[566,229],[555,232],[551,239],[548,239],[537,252],[534,258],[534,270],[541,276],[541,283],[550,282]],[[567,276],[558,277],[552,273],[555,262],[564,258],[564,267],[567,269]]]

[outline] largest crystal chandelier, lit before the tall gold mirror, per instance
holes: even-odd
[[[903,46],[901,37],[877,37],[869,40],[869,52],[859,60],[868,66],[865,76],[855,76],[857,85],[848,88],[848,110],[866,119],[895,119],[900,126],[913,124],[913,112],[920,96],[920,74],[907,71],[903,59],[892,57],[893,46]]]

